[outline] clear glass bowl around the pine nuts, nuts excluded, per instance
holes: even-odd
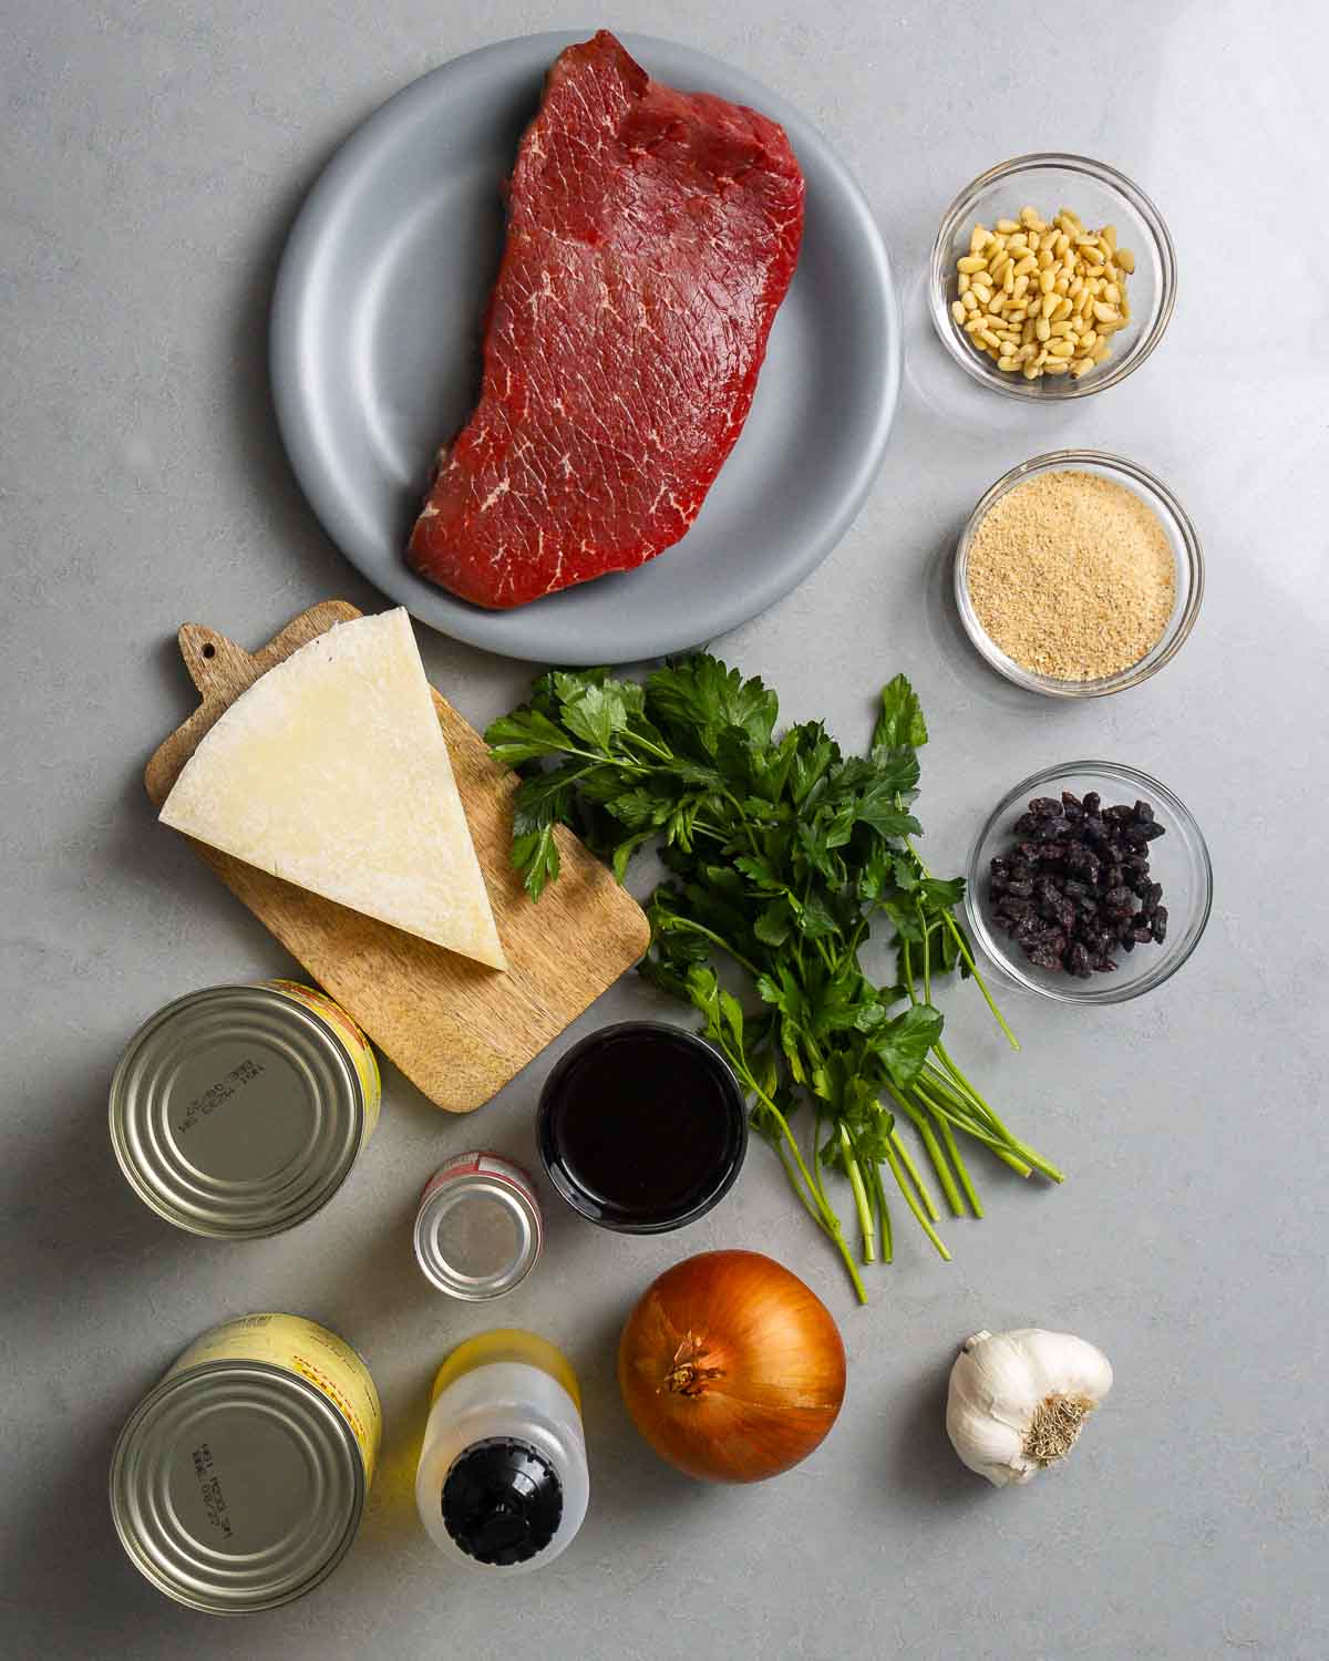
[[[1120,246],[1135,254],[1126,284],[1131,321],[1111,337],[1111,357],[1078,380],[1072,375],[1025,380],[998,369],[950,316],[960,294],[955,261],[969,252],[973,226],[990,229],[998,219],[1018,219],[1027,204],[1042,214],[1070,208],[1090,229],[1113,224]],[[932,244],[927,304],[942,345],[973,380],[1012,399],[1083,399],[1125,380],[1163,339],[1176,304],[1176,251],[1160,211],[1116,168],[1088,156],[1017,156],[988,168],[947,208]]]

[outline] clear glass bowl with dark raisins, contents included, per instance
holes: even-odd
[[[1070,761],[1022,779],[969,862],[969,920],[1003,973],[1062,1003],[1161,987],[1209,920],[1213,867],[1193,814],[1158,779]]]

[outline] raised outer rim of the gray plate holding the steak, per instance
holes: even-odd
[[[277,264],[267,319],[267,379],[277,432],[296,483],[324,533],[377,593],[397,605],[404,605],[417,623],[432,628],[445,638],[490,651],[495,656],[525,663],[581,664],[591,661],[591,658],[585,653],[570,653],[566,648],[548,641],[542,644],[538,638],[527,638],[538,636],[540,633],[538,626],[532,630],[528,621],[528,618],[537,615],[533,605],[538,605],[538,601],[507,611],[488,611],[470,606],[439,588],[427,596],[437,608],[434,615],[429,615],[429,608],[420,605],[419,588],[415,586],[420,578],[407,568],[405,558],[400,561],[400,571],[390,570],[384,573],[380,570],[379,551],[369,550],[360,543],[360,532],[354,523],[354,515],[344,497],[331,485],[329,470],[311,437],[317,425],[311,419],[317,410],[317,400],[307,395],[307,377],[302,367],[307,350],[304,347],[304,334],[311,316],[316,314],[316,262],[329,234],[329,224],[336,223],[336,213],[346,199],[347,184],[354,179],[357,168],[379,151],[379,135],[399,125],[404,115],[415,105],[434,103],[440,88],[445,88],[457,76],[473,73],[477,60],[502,58],[512,55],[517,48],[530,51],[540,45],[542,48],[548,48],[550,61],[553,61],[566,45],[585,38],[585,30],[538,30],[528,35],[513,35],[505,40],[488,42],[415,76],[415,80],[370,110],[337,145],[296,213]],[[749,581],[734,590],[726,605],[709,610],[706,630],[699,639],[684,638],[693,633],[691,626],[679,633],[679,623],[676,621],[671,630],[653,630],[650,620],[646,620],[645,630],[641,626],[625,630],[630,636],[628,651],[595,653],[591,656],[596,663],[638,663],[693,649],[759,616],[806,581],[844,538],[875,483],[899,409],[904,367],[900,302],[885,241],[862,188],[821,131],[782,95],[763,86],[746,70],[736,68],[698,47],[638,32],[625,32],[618,38],[633,56],[645,58],[646,61],[650,61],[655,48],[661,48],[666,53],[679,53],[684,60],[699,60],[711,70],[721,70],[726,78],[733,78],[734,85],[739,86],[739,98],[751,100],[754,108],[761,108],[763,113],[771,115],[786,130],[791,126],[796,128],[804,136],[804,143],[811,140],[812,146],[819,151],[819,159],[836,178],[842,199],[852,213],[856,234],[875,277],[874,289],[884,311],[884,327],[880,331],[879,352],[880,385],[874,400],[870,429],[862,442],[854,468],[852,485],[841,492],[834,512],[827,513],[817,532],[806,538],[797,556],[782,561],[766,581]],[[663,550],[663,553],[668,551]],[[633,571],[618,575],[630,580]],[[570,593],[575,593],[575,590],[570,590]],[[650,636],[650,643],[643,636]]]

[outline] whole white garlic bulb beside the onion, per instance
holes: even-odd
[[[950,1369],[945,1428],[997,1488],[1065,1458],[1111,1389],[1108,1357],[1068,1332],[975,1332]]]

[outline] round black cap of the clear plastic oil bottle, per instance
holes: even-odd
[[[477,1563],[528,1563],[558,1533],[563,1483],[538,1448],[510,1437],[475,1442],[444,1483],[444,1526]]]

